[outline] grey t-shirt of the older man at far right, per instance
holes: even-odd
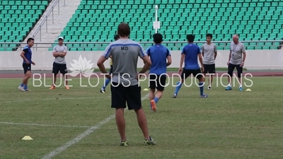
[[[245,46],[242,42],[235,44],[231,42],[230,45],[231,59],[230,64],[241,64],[243,61],[243,52],[246,52]]]

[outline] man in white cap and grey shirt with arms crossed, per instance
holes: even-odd
[[[53,48],[53,57],[55,57],[55,59],[53,62],[53,69],[52,69],[53,83],[50,90],[55,89],[56,78],[59,71],[64,76],[65,88],[69,90],[67,76],[65,76],[65,74],[67,73],[67,65],[65,60],[65,56],[67,54],[67,47],[63,44],[63,42],[64,42],[64,38],[58,37],[58,45],[56,45]]]

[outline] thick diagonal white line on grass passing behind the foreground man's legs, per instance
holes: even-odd
[[[141,100],[145,100],[149,98],[149,93],[147,95],[145,95],[143,98],[141,98]],[[80,134],[79,136],[76,136],[76,138],[72,139],[71,141],[65,143],[63,146],[56,148],[54,151],[52,151],[51,153],[48,153],[47,155],[45,155],[42,159],[51,159],[54,158],[55,155],[58,155],[59,153],[62,153],[62,151],[66,150],[67,148],[69,148],[70,146],[74,145],[75,143],[81,141],[81,139],[83,139],[84,137],[88,136],[89,134],[91,134],[93,131],[97,130],[100,128],[100,126],[103,126],[104,124],[108,123],[111,119],[115,118],[115,114],[112,114],[110,117],[104,119],[102,122],[99,122],[98,124],[96,124],[95,126],[92,126],[90,129],[87,129],[85,132],[83,132],[83,134]]]

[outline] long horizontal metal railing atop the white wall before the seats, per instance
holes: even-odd
[[[246,47],[255,47],[255,49],[258,49],[260,47],[271,47],[272,49],[278,49],[279,46],[283,47],[283,40],[250,40],[250,41],[241,41]],[[168,44],[168,47],[174,47],[175,49],[182,48],[187,42],[162,42],[163,45]],[[205,41],[196,41],[195,44],[204,44]],[[217,47],[221,47],[221,49],[229,49],[229,46],[231,44],[231,41],[214,41],[213,43],[219,44]],[[268,44],[269,43],[269,44]],[[79,47],[74,47],[72,45],[79,45]],[[83,50],[88,50],[88,48],[98,48],[98,51],[105,49],[107,45],[109,45],[110,42],[64,42],[64,45],[68,47],[70,50],[71,48],[81,48]],[[154,44],[154,42],[139,42],[141,46],[146,49],[147,47],[150,47]],[[175,44],[174,46],[170,46],[169,44]],[[25,46],[26,43],[24,42],[0,42],[0,48],[4,49],[22,49],[23,46]],[[40,45],[40,46],[39,46]],[[54,47],[54,45],[57,45],[57,42],[35,42],[33,45],[33,50],[37,49],[50,49]],[[83,51],[82,50],[82,51]]]

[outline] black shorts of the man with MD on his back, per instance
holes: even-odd
[[[112,83],[111,85],[111,100],[112,108],[126,108],[126,102],[128,110],[141,109],[141,87],[139,85],[124,87],[122,84],[117,86],[118,83]]]

